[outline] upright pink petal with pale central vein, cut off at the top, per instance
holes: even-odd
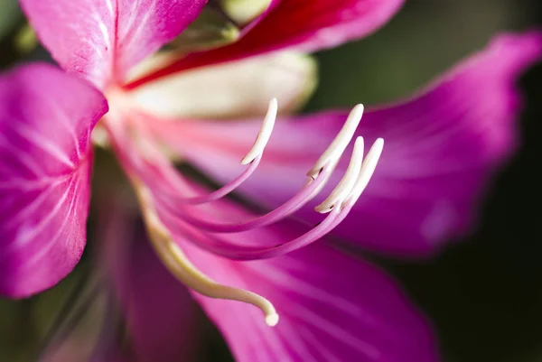
[[[207,0],[22,0],[61,66],[103,88],[170,42]]]

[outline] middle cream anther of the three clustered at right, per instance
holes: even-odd
[[[363,137],[356,138],[356,143],[354,144],[354,151],[352,152],[352,158],[346,172],[341,181],[332,190],[330,196],[326,200],[323,200],[320,205],[314,209],[320,213],[326,213],[333,209],[333,207],[338,206],[345,200],[349,195],[358,180],[360,174],[361,165],[363,161]]]

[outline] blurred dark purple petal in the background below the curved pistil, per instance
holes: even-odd
[[[143,232],[143,230],[142,230]],[[138,362],[184,361],[199,344],[201,316],[187,289],[160,263],[148,241],[136,240],[123,285],[123,313]]]

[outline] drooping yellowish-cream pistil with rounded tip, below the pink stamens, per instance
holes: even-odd
[[[259,308],[266,315],[266,324],[273,327],[278,323],[275,307],[266,298],[243,289],[233,288],[216,283],[202,274],[184,255],[181,248],[173,241],[168,229],[164,226],[156,211],[152,196],[142,183],[134,181],[135,191],[141,207],[145,226],[154,251],[168,270],[187,287],[210,298],[246,302]]]

